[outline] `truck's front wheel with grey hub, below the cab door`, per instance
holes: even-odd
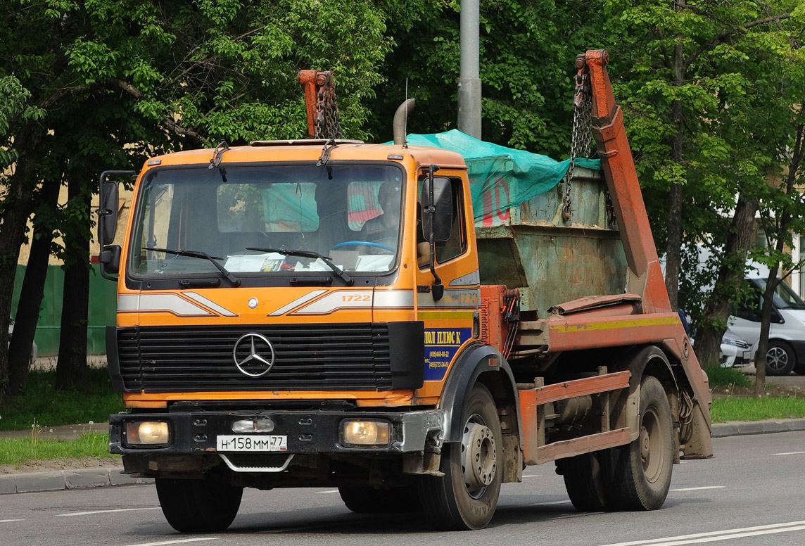
[[[492,395],[481,384],[473,387],[464,407],[460,444],[442,447],[444,476],[422,476],[419,500],[437,529],[466,531],[489,523],[502,482],[502,435]]]

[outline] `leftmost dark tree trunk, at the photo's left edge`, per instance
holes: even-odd
[[[19,248],[25,242],[25,228],[31,215],[35,188],[36,147],[43,132],[35,123],[24,126],[14,139],[17,161],[10,176],[8,191],[2,200],[0,213],[0,401],[10,400],[10,367],[8,361],[8,320],[11,316],[11,298],[14,295],[14,277],[17,274]]]

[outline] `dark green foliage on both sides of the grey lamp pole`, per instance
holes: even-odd
[[[392,10],[392,3],[386,2],[386,9]],[[455,128],[459,4],[408,2],[404,15],[389,17],[389,35],[397,47],[386,57],[387,83],[378,87],[371,105],[369,127],[377,139],[391,139],[391,119],[406,98],[406,86],[407,96],[417,100],[409,132]],[[600,40],[601,27],[580,24],[591,8],[584,2],[481,2],[485,140],[557,159],[568,155],[576,54]]]

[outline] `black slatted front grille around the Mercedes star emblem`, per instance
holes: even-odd
[[[258,333],[275,350],[260,377],[233,348]],[[392,388],[388,325],[149,326],[118,329],[123,391],[385,391]]]

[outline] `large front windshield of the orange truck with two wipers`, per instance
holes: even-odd
[[[350,274],[377,275],[397,263],[402,196],[403,171],[386,165],[154,169],[135,205],[129,272],[220,275],[181,252],[192,250],[237,277],[332,274],[316,254]]]

